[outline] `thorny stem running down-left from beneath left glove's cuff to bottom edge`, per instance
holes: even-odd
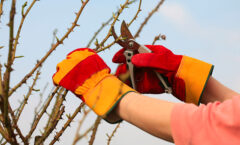
[[[66,130],[66,128],[68,126],[70,126],[70,123],[72,122],[72,120],[76,117],[76,115],[78,114],[78,112],[80,112],[81,108],[83,107],[83,104],[80,104],[78,106],[78,108],[74,111],[73,115],[68,117],[67,122],[64,124],[64,126],[62,127],[62,129],[54,136],[54,139],[50,142],[49,145],[53,145],[55,144],[56,141],[59,140],[60,136],[63,134],[63,132]]]

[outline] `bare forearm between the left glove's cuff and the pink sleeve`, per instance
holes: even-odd
[[[118,104],[116,113],[142,130],[173,142],[170,120],[174,103],[128,93]]]

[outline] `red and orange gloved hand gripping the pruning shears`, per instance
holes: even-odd
[[[164,46],[146,45],[146,47],[153,53],[136,54],[131,60],[136,66],[137,91],[153,94],[164,92],[153,71],[156,70],[167,77],[175,97],[187,103],[199,104],[213,65],[188,56],[175,55]],[[123,52],[124,48],[113,57],[113,62],[121,63],[116,71],[118,77],[127,72]],[[130,80],[126,83],[130,83]]]

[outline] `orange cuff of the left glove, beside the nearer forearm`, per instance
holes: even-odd
[[[132,91],[135,90],[121,82],[117,77],[108,75],[95,87],[91,87],[84,93],[83,98],[96,114],[105,118],[121,98]]]

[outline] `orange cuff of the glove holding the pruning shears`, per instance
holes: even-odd
[[[198,105],[206,83],[213,71],[213,65],[195,58],[183,56],[176,77],[185,82],[187,103]]]

